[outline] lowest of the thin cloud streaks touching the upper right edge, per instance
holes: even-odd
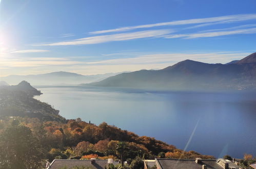
[[[165,38],[199,38],[199,37],[215,37],[215,36],[224,36],[224,35],[234,35],[234,34],[254,34],[256,33],[256,28],[249,29],[238,29],[230,31],[216,31],[216,32],[204,32],[204,33],[191,33],[191,34],[173,34],[167,35]]]

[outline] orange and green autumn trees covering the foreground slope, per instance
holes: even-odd
[[[46,160],[51,162],[54,159],[113,158],[120,159],[123,166],[124,161],[128,161],[131,168],[136,168],[143,158],[154,159],[163,155],[167,158],[213,158],[192,151],[184,152],[173,145],[137,136],[106,122],[97,126],[80,119],[58,122],[6,117],[0,121],[0,133],[2,168],[37,168]]]

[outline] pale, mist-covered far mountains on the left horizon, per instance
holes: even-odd
[[[103,80],[119,73],[107,73],[98,75],[81,75],[70,72],[52,72],[38,75],[10,75],[2,77],[9,84],[17,84],[19,81],[29,81],[33,86],[40,85],[77,85]]]

